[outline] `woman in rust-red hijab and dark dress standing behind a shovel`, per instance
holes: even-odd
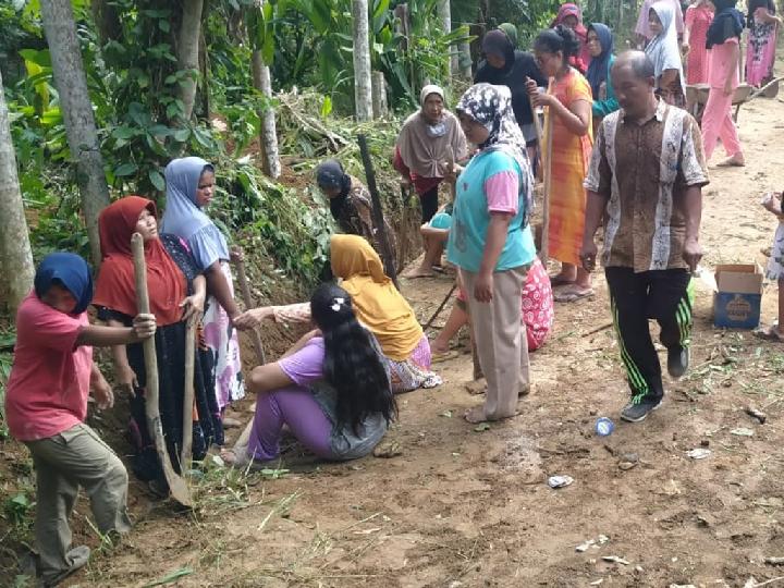
[[[127,326],[137,314],[131,236],[139,233],[145,244],[150,313],[156,317],[156,351],[160,415],[172,464],[179,469],[182,448],[182,415],[187,321],[204,313],[206,281],[184,242],[159,235],[155,203],[127,196],[105,208],[98,217],[101,261],[93,305],[98,318],[110,326]],[[194,377],[194,458],[200,460],[211,443],[222,444],[223,432],[215,393],[210,388],[209,355],[198,345]],[[145,416],[145,372],[142,345],[112,348],[115,377],[131,396],[131,438],[136,446],[134,471],[139,479],[164,482]],[[207,376],[207,377],[205,377]],[[163,487],[158,486],[157,490]]]

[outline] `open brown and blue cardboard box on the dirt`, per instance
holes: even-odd
[[[755,264],[716,266],[713,324],[728,329],[759,326],[762,269]]]

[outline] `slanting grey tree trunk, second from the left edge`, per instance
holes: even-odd
[[[87,226],[93,262],[97,266],[101,260],[98,213],[109,205],[109,188],[103,173],[103,158],[98,148],[98,134],[76,38],[76,24],[70,0],[41,0],[40,9],[51,53],[54,84],[60,94],[71,159],[76,162],[82,213]]]

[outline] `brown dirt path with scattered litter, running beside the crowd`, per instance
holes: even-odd
[[[758,201],[784,187],[774,159],[783,120],[780,100],[740,112],[749,166],[712,171],[706,266],[763,261],[776,221]],[[596,282],[592,301],[558,306],[554,334],[531,358],[535,391],[520,416],[481,432],[460,418],[479,402],[464,390],[471,363],[463,354],[439,368],[443,387],[400,397],[388,440],[402,455],[247,486],[213,471],[224,488],[210,487],[200,514],[136,502],[130,541],[76,581],[145,586],[177,569],[191,571],[179,586],[742,587],[751,576],[784,576],[763,561],[784,556],[784,348],[714,330],[701,286],[690,377],[669,384],[646,422],[620,424],[627,392],[612,332],[583,336],[609,320],[607,289]],[[450,285],[420,280],[405,290],[427,320]],[[772,287],[763,317],[774,305]],[[744,414],[750,403],[767,406],[767,424]],[[601,415],[617,425],[604,439],[592,432]],[[754,437],[731,433],[740,427]],[[708,458],[686,456],[700,446]],[[626,453],[639,458],[628,470],[618,467]],[[551,490],[546,477],[556,474],[575,482]],[[576,551],[588,539],[597,546]]]

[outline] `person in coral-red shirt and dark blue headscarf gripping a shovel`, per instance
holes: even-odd
[[[34,291],[16,313],[5,416],[11,434],[27,445],[35,463],[37,567],[46,586],[57,585],[89,558],[86,546],[71,549],[68,517],[79,486],[101,534],[131,528],[125,467],[84,424],[90,391],[99,408],[114,404],[111,388],[93,363],[93,346],[147,339],[156,322],[152,315],[138,315],[128,328],[93,326],[85,313],[91,298],[87,262],[54,253],[41,261]]]

